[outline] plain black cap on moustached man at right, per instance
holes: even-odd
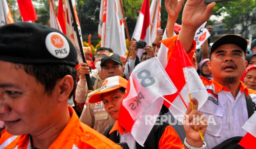
[[[244,52],[247,49],[247,41],[244,37],[238,36],[236,34],[227,34],[218,38],[212,45],[210,54],[213,53],[219,46],[224,44],[235,44],[239,46]]]

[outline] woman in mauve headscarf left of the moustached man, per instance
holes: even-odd
[[[199,75],[205,77],[208,80],[213,80],[212,72],[207,65],[208,61],[210,61],[208,58],[200,61],[199,67],[198,67],[200,71]]]

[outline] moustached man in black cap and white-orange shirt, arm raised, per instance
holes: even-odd
[[[192,60],[196,47],[193,41],[196,30],[208,21],[214,5],[215,2],[206,5],[203,0],[188,0],[182,15],[180,34],[172,37],[175,42],[167,46],[175,47],[176,44],[181,44]],[[246,39],[234,34],[222,36],[212,45],[210,61],[207,64],[212,71],[213,80],[201,78],[209,97],[199,109],[209,123],[204,135],[207,148],[213,148],[229,138],[236,136],[242,138],[246,134],[242,126],[254,113],[253,102],[256,103],[253,91],[247,89],[240,81],[247,65],[246,48]],[[249,96],[252,99],[248,98]],[[239,140],[236,141],[233,145],[238,145]],[[227,142],[224,146],[229,144],[232,143]]]

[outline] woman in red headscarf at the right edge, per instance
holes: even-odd
[[[247,88],[256,90],[256,65],[246,67],[245,72],[241,77],[241,81]]]

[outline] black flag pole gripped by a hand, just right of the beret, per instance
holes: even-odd
[[[76,37],[77,37],[77,40],[78,40],[79,48],[80,48],[81,53],[84,53],[83,47],[82,47],[82,43],[81,43],[81,39],[80,39],[80,37],[79,37],[79,32],[78,32],[78,28],[77,28],[75,13],[74,13],[74,10],[73,10],[73,8],[72,8],[72,7],[73,7],[73,4],[72,4],[71,0],[68,0],[68,2],[69,2],[71,14],[72,14],[72,19],[73,19],[73,23],[74,23],[74,29],[75,29],[75,31],[76,31]],[[85,61],[85,55],[84,55],[84,54],[81,54],[81,56],[82,56],[83,62],[87,64],[87,62]],[[89,90],[93,90],[93,86],[92,86],[92,82],[91,82],[90,75],[89,75],[89,74],[85,74],[85,78],[86,78],[86,82],[87,82],[88,89],[89,89]]]

